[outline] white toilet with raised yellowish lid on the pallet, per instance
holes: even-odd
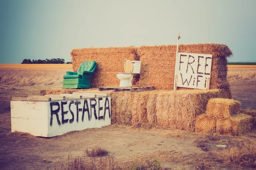
[[[130,61],[126,60],[124,64],[125,73],[117,73],[116,77],[120,80],[119,87],[131,87],[131,80],[133,79],[133,74],[140,73],[141,61]]]

